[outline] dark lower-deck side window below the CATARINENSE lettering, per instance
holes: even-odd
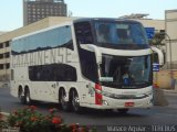
[[[76,81],[76,68],[65,64],[29,67],[29,78],[33,81]]]

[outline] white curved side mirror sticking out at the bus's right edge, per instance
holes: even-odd
[[[164,65],[164,54],[163,54],[163,52],[159,48],[155,47],[155,46],[150,46],[150,48],[152,48],[153,52],[157,53],[158,64],[160,66],[163,66]]]

